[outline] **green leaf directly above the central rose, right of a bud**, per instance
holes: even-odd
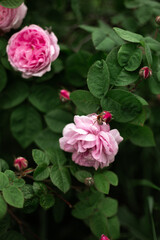
[[[86,90],[74,91],[71,93],[70,98],[79,110],[85,114],[94,113],[100,107],[99,100]]]

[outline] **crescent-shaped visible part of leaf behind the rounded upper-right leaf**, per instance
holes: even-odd
[[[126,86],[139,78],[138,72],[128,72],[117,60],[118,49],[114,48],[107,56],[106,62],[110,73],[110,83],[115,86]]]

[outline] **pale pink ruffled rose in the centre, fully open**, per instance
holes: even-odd
[[[97,114],[75,116],[74,122],[65,126],[60,147],[72,152],[72,160],[82,166],[95,169],[109,166],[123,140],[117,129],[110,130],[109,124],[98,124]]]

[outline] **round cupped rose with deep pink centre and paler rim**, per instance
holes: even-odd
[[[7,45],[10,64],[22,72],[24,78],[41,77],[49,72],[59,50],[54,33],[37,25],[24,27],[9,39]]]

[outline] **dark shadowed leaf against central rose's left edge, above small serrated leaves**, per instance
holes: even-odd
[[[35,139],[35,143],[43,150],[58,149],[60,134],[53,133],[48,128],[42,130]]]

